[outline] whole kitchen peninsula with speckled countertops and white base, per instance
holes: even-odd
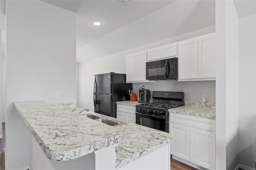
[[[134,123],[112,127],[81,115],[98,113],[43,101],[14,106],[32,133],[32,169],[170,169],[168,133]]]

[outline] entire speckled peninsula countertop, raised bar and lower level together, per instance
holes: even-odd
[[[134,123],[112,127],[82,115],[91,111],[77,115],[82,111],[78,107],[62,109],[43,101],[14,106],[51,160],[70,160],[118,144],[116,168],[121,168],[172,141],[166,132]]]

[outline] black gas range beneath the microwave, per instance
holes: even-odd
[[[184,106],[183,92],[153,91],[153,102],[136,105],[136,124],[169,132],[168,109]]]

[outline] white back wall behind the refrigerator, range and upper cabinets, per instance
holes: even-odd
[[[197,31],[172,37],[169,39],[164,39],[152,44],[144,45],[135,49],[130,49],[128,51],[123,51],[114,55],[103,57],[100,59],[95,59],[85,63],[78,64],[78,99],[77,106],[81,108],[89,108],[94,110],[93,106],[93,86],[94,86],[94,75],[102,74],[107,72],[116,73],[126,73],[126,55],[131,53],[136,53],[138,51],[147,50],[150,48],[158,47],[161,45],[166,45],[169,43],[174,43],[182,41],[184,39],[189,39],[192,37],[197,37],[207,33],[215,32],[215,26],[203,28]],[[138,91],[138,86],[134,84],[134,91]],[[144,84],[145,85],[145,84]],[[211,82],[177,82],[177,81],[160,81],[157,83],[147,83],[146,86],[150,86],[148,89],[152,90],[162,90],[165,87],[166,90],[185,90],[186,99],[191,101],[201,101],[202,94],[209,94],[208,102],[215,103],[215,81]],[[156,88],[161,86],[161,88]],[[207,87],[204,87],[207,86]]]

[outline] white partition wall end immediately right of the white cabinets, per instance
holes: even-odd
[[[239,163],[238,30],[234,1],[216,1],[216,169],[234,170]]]

